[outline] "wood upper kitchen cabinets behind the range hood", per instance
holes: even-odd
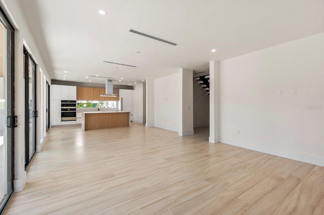
[[[118,89],[113,89],[114,94],[119,94]],[[117,101],[117,97],[101,97],[101,94],[105,94],[105,88],[93,88],[93,87],[76,87],[76,100],[78,101]]]

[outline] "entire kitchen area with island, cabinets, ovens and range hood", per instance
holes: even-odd
[[[145,83],[116,86],[110,79],[105,85],[60,81],[51,89],[51,127],[80,126],[87,131],[145,123]]]

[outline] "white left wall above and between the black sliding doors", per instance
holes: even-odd
[[[36,72],[39,74],[39,69],[42,68],[44,75],[51,83],[50,73],[44,63],[41,51],[38,49],[37,43],[33,38],[32,32],[28,27],[28,23],[24,18],[23,9],[20,8],[18,0],[0,0],[1,6],[9,16],[11,23],[15,27],[15,115],[18,117],[18,127],[15,128],[15,192],[22,191],[26,184],[26,172],[24,167],[25,160],[25,138],[24,138],[24,122],[25,122],[25,91],[24,91],[24,77],[23,77],[23,45],[25,45],[30,52],[30,56],[35,60]],[[50,68],[51,69],[51,68]],[[40,80],[39,78],[37,80]],[[41,87],[37,88],[37,102],[41,101]],[[42,113],[43,105],[37,104],[38,113]],[[39,120],[38,120],[39,122]],[[41,123],[38,123],[39,126]],[[40,131],[37,127],[37,132]],[[38,135],[37,143],[42,135]]]

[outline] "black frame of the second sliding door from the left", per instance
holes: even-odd
[[[27,170],[28,165],[32,159],[32,157],[34,156],[35,152],[36,152],[36,133],[37,133],[37,124],[36,124],[36,119],[35,119],[35,131],[34,131],[34,136],[35,136],[35,142],[33,144],[35,144],[35,151],[33,152],[33,154],[31,155],[31,157],[29,157],[29,60],[31,60],[34,65],[35,65],[35,70],[36,70],[36,63],[34,62],[34,60],[30,57],[29,52],[27,51],[27,49],[24,46],[24,58],[25,58],[25,170]],[[36,104],[37,104],[37,100],[36,100],[36,71],[35,71],[35,83],[33,83],[33,87],[35,89],[34,91],[34,98],[35,100],[33,102],[35,102],[35,112],[32,113],[32,118],[36,118],[38,117],[38,113],[36,111]]]

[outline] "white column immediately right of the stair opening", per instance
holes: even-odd
[[[219,142],[219,62],[209,63],[209,142]]]

